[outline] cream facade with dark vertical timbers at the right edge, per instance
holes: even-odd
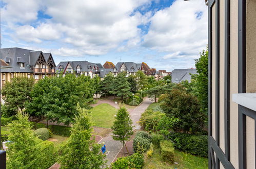
[[[256,1],[206,4],[209,168],[256,168]]]

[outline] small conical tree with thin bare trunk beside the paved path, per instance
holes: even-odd
[[[114,124],[111,129],[113,130],[112,138],[116,141],[121,141],[129,153],[125,141],[128,141],[128,139],[133,134],[133,131],[132,121],[125,107],[121,107],[121,109],[117,112]]]

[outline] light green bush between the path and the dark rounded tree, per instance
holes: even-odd
[[[153,112],[152,110],[146,110],[140,119],[140,124],[146,131],[156,131],[160,119],[165,117],[162,112]]]

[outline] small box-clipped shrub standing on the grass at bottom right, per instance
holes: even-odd
[[[174,162],[174,147],[172,142],[168,140],[160,141],[160,151],[163,160],[169,160],[171,163]]]

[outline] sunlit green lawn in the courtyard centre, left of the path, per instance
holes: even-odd
[[[115,108],[108,103],[102,103],[91,110],[93,125],[102,128],[111,128],[115,120]]]

